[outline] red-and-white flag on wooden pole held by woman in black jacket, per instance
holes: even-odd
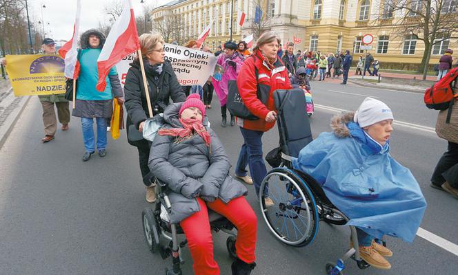
[[[103,45],[99,59],[97,59],[97,69],[99,71],[99,81],[96,88],[98,91],[105,91],[106,77],[110,69],[122,58],[140,49],[137,25],[135,25],[134,10],[130,0],[123,0],[123,11],[112,25],[110,34]]]

